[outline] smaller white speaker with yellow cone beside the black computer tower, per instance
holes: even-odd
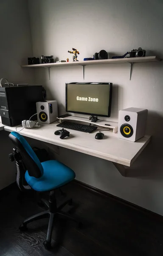
[[[58,107],[56,100],[46,100],[45,102],[36,102],[37,120],[39,123],[50,124],[56,121],[58,116]]]

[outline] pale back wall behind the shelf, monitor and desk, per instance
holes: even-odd
[[[163,58],[162,10],[161,0],[29,0],[34,55],[72,61],[67,50],[74,47],[80,61],[101,49],[119,55],[143,47],[147,55]],[[59,113],[65,113],[65,82],[83,81],[82,67],[53,68],[51,80],[48,70],[36,74],[48,98],[58,101]],[[147,133],[153,134],[152,143],[128,177],[108,161],[65,148],[60,148],[58,158],[74,169],[77,180],[163,215],[163,63],[134,64],[132,81],[128,64],[87,66],[85,81],[113,83],[109,120],[117,121],[123,108],[149,109]]]

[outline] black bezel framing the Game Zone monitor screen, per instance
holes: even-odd
[[[110,85],[110,96],[109,96],[109,107],[108,107],[108,114],[107,115],[100,115],[97,113],[87,113],[87,112],[78,112],[78,111],[68,111],[67,110],[67,85],[68,84],[108,84]],[[73,82],[73,83],[66,83],[65,84],[65,89],[66,89],[66,112],[69,113],[77,113],[77,114],[82,114],[82,115],[91,115],[91,116],[104,116],[104,117],[110,117],[111,114],[111,106],[112,106],[112,83],[103,83],[103,82],[91,82],[91,83],[80,83],[80,82]]]

